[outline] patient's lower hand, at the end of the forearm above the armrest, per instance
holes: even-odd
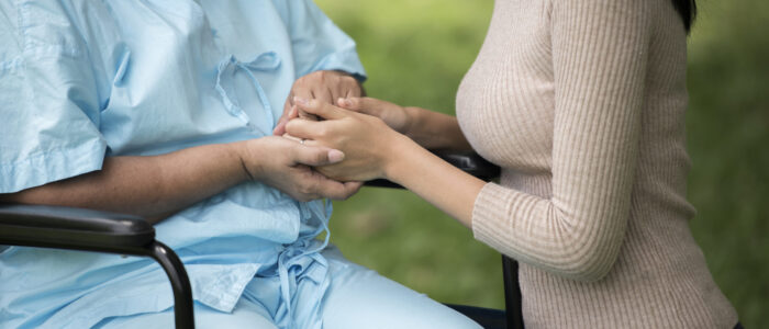
[[[322,197],[344,200],[361,185],[328,179],[311,168],[342,161],[344,154],[335,149],[277,136],[244,140],[237,147],[243,169],[252,180],[302,202]]]

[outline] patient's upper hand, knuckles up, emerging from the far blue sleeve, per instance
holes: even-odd
[[[286,99],[283,114],[278,120],[272,134],[282,136],[286,134],[286,123],[294,117],[315,118],[294,106],[294,99],[317,100],[322,103],[335,104],[339,98],[358,98],[363,94],[360,82],[350,75],[341,71],[314,71],[297,79],[291,87],[291,92]]]

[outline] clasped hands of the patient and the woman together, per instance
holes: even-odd
[[[408,139],[402,135],[409,129],[408,111],[361,93],[357,80],[342,72],[316,71],[297,80],[276,136],[244,148],[246,158],[270,155],[259,166],[244,164],[250,179],[310,201],[344,200],[363,181],[387,178],[399,141]]]

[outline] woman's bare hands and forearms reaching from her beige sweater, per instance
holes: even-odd
[[[305,145],[345,154],[344,161],[317,171],[339,181],[388,179],[471,227],[472,206],[486,182],[425,149],[470,148],[455,117],[370,98],[338,100],[342,107],[315,100],[294,102],[323,121],[292,120],[286,125],[288,134],[308,139]]]

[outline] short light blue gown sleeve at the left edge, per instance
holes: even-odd
[[[0,7],[0,193],[101,169],[107,144],[83,37],[52,3]]]

